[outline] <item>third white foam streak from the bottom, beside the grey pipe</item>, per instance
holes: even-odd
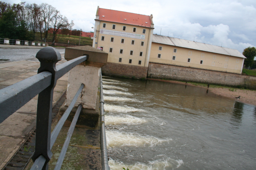
[[[138,125],[145,123],[146,120],[131,115],[124,116],[107,116],[105,115],[105,125],[114,125],[114,124],[127,124],[127,125]]]

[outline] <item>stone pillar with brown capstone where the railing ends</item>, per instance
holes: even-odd
[[[83,106],[78,119],[81,121],[80,123],[78,121],[77,125],[95,128],[100,117],[99,106],[97,106],[99,102],[96,102],[100,68],[106,65],[108,53],[91,46],[67,47],[65,49],[66,60],[71,60],[83,55],[87,55],[87,60],[69,71],[66,101],[65,105],[60,110],[60,115],[70,105],[75,93],[83,83],[85,87],[83,87],[75,103],[75,107],[78,107],[80,103]],[[72,114],[75,114],[75,110],[76,108],[73,108]]]

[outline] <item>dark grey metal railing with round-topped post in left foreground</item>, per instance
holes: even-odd
[[[43,49],[39,50],[36,57],[41,63],[37,75],[0,90],[0,123],[7,119],[15,111],[20,109],[20,107],[25,105],[28,101],[33,99],[33,97],[35,97],[37,94],[39,94],[37,103],[36,146],[35,153],[32,157],[34,164],[31,170],[47,170],[48,162],[52,157],[51,148],[84,85],[81,84],[81,87],[77,91],[70,106],[65,111],[57,126],[51,133],[53,89],[59,78],[61,78],[65,73],[79,63],[87,60],[87,56],[81,56],[56,66],[56,63],[61,60],[61,54],[53,47],[44,47]],[[67,151],[67,146],[75,128],[80,111],[81,104],[79,105],[77,113],[75,113],[75,117],[73,118],[69,128],[69,132],[61,150],[58,162],[55,166],[55,170],[59,170],[61,168],[65,153]]]

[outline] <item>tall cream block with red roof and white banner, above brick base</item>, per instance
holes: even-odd
[[[108,63],[148,67],[153,16],[97,9],[93,47],[108,53]]]

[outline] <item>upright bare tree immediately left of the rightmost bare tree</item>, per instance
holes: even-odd
[[[41,17],[43,20],[43,29],[45,32],[45,42],[46,39],[48,37],[48,31],[51,28],[51,24],[53,22],[54,17],[59,13],[58,10],[56,10],[56,8],[54,8],[53,6],[49,5],[49,4],[41,4],[40,5],[41,8]]]

